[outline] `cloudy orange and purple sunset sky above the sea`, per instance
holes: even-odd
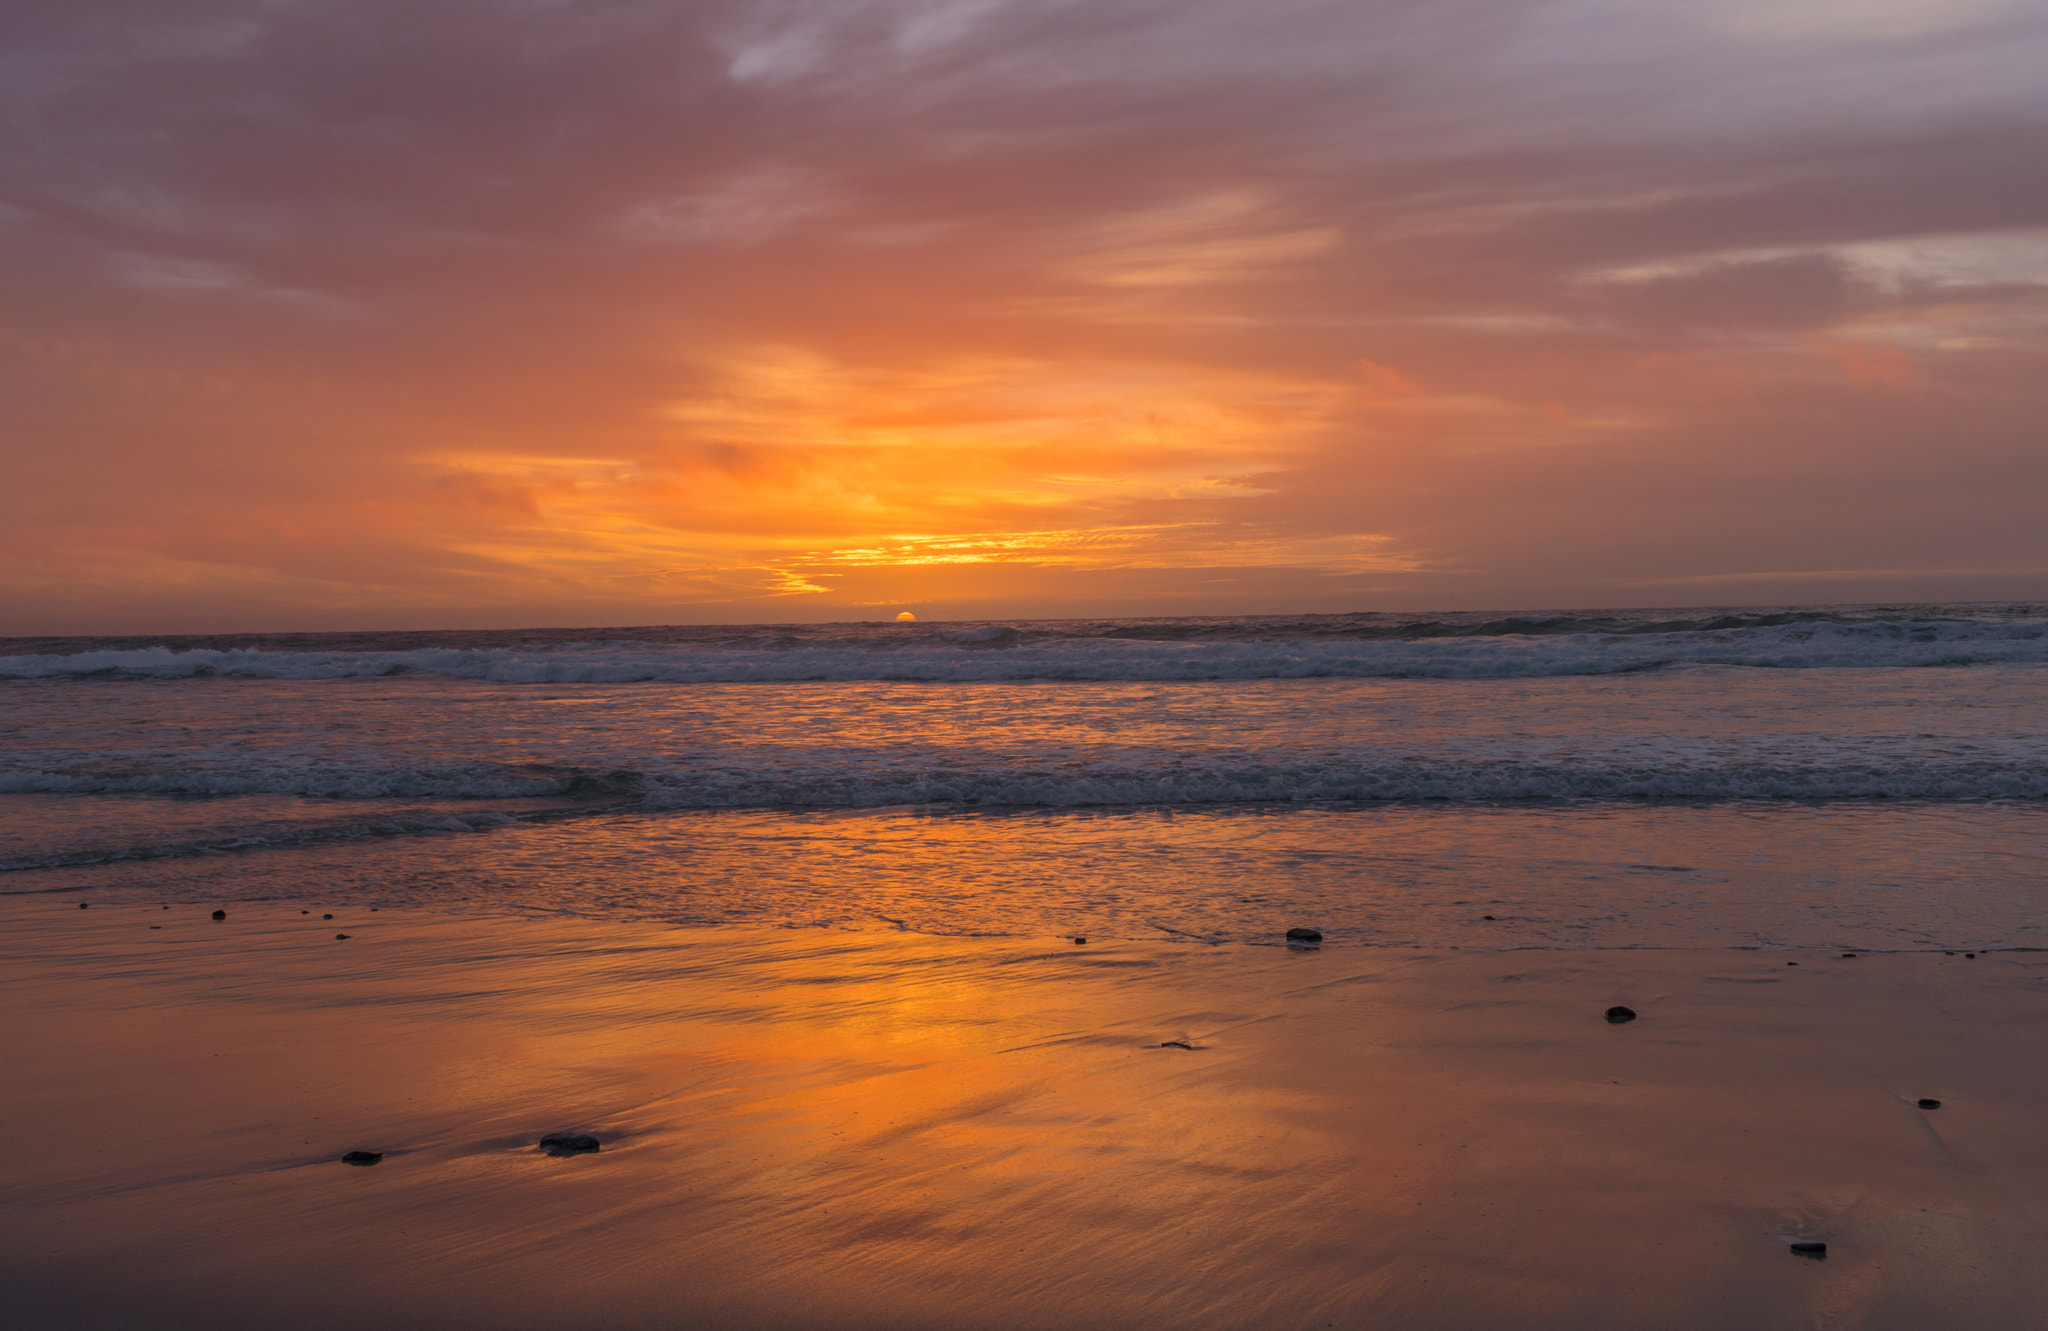
[[[2038,0],[12,0],[0,635],[2048,598]]]

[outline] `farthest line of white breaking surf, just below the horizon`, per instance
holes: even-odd
[[[1675,666],[1751,670],[2048,663],[2048,620],[1798,620],[1665,633],[1501,633],[1399,641],[1153,641],[985,627],[866,645],[791,637],[723,645],[559,643],[410,651],[141,647],[0,657],[0,680],[346,680],[492,684],[1489,680]]]

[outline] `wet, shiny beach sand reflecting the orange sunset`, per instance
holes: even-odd
[[[0,901],[8,1327],[2048,1321],[2038,954],[209,909]]]

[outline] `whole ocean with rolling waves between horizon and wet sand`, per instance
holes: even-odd
[[[0,893],[2048,946],[2048,604],[0,639]]]

